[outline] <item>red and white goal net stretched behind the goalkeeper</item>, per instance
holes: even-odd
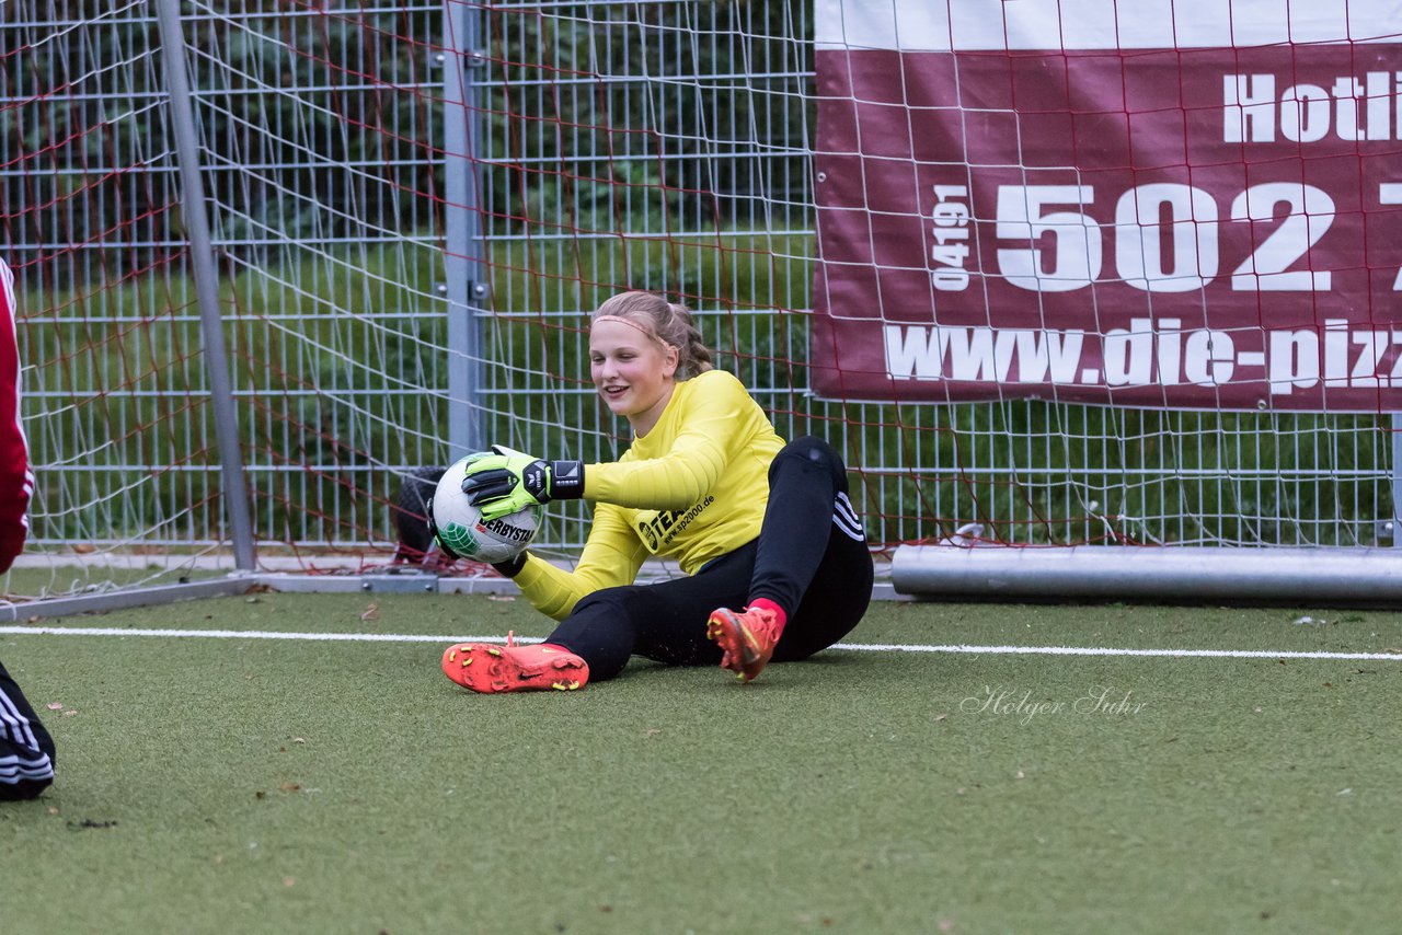
[[[1387,4],[177,3],[195,244],[160,6],[0,4],[11,600],[229,572],[224,458],[258,572],[412,564],[416,470],[627,447],[585,324],[632,287],[837,446],[883,550],[1391,537]]]

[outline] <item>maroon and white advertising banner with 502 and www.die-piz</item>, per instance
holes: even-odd
[[[1402,3],[819,0],[823,397],[1402,408]]]

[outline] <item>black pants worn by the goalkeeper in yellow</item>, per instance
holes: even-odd
[[[550,641],[589,663],[589,680],[617,676],[629,656],[673,666],[715,666],[705,638],[716,607],[767,597],[788,613],[774,662],[806,659],[845,636],[872,594],[872,557],[847,498],[847,468],[826,442],[791,442],[770,465],[760,537],[656,585],[606,587],[583,597]]]

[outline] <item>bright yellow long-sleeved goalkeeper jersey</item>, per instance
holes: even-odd
[[[585,467],[594,524],[573,572],[527,557],[515,580],[543,614],[631,585],[651,554],[694,575],[760,534],[768,470],[784,447],[764,411],[726,370],[676,385],[658,425],[617,461]]]

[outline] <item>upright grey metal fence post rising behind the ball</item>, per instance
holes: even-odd
[[[458,0],[443,4],[444,273],[447,276],[447,440],[449,460],[486,447],[482,432],[481,387],[482,314],[491,301],[486,254],[478,212],[477,79],[478,13]]]

